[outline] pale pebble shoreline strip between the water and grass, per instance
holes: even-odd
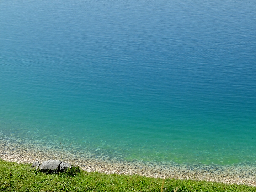
[[[22,154],[22,155],[21,155]],[[99,155],[99,154],[98,154]],[[91,151],[86,154],[77,151],[63,151],[63,148],[35,144],[17,143],[9,138],[0,140],[0,159],[31,164],[34,161],[57,159],[69,162],[81,169],[106,174],[138,174],[154,178],[175,178],[206,180],[226,184],[245,184],[256,186],[256,164],[241,165],[196,165],[178,164],[175,162],[126,161],[105,156],[96,156]]]

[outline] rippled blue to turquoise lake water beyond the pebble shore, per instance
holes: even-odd
[[[131,161],[255,162],[255,8],[1,1],[0,130]]]

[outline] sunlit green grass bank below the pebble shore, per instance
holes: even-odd
[[[10,172],[12,176],[10,177]],[[35,172],[28,164],[17,164],[0,160],[0,191],[150,191],[160,192],[162,179],[139,175],[101,174],[98,172],[64,172],[47,174]],[[223,183],[174,180],[164,181],[164,191],[173,192],[211,192],[211,191],[255,191],[255,187],[246,185],[226,185]]]

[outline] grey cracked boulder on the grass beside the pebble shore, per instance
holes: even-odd
[[[58,160],[48,160],[42,162],[40,165],[39,161],[33,162],[31,168],[35,168],[36,170],[42,171],[65,171],[68,168],[71,168],[71,165],[66,162],[61,162]]]

